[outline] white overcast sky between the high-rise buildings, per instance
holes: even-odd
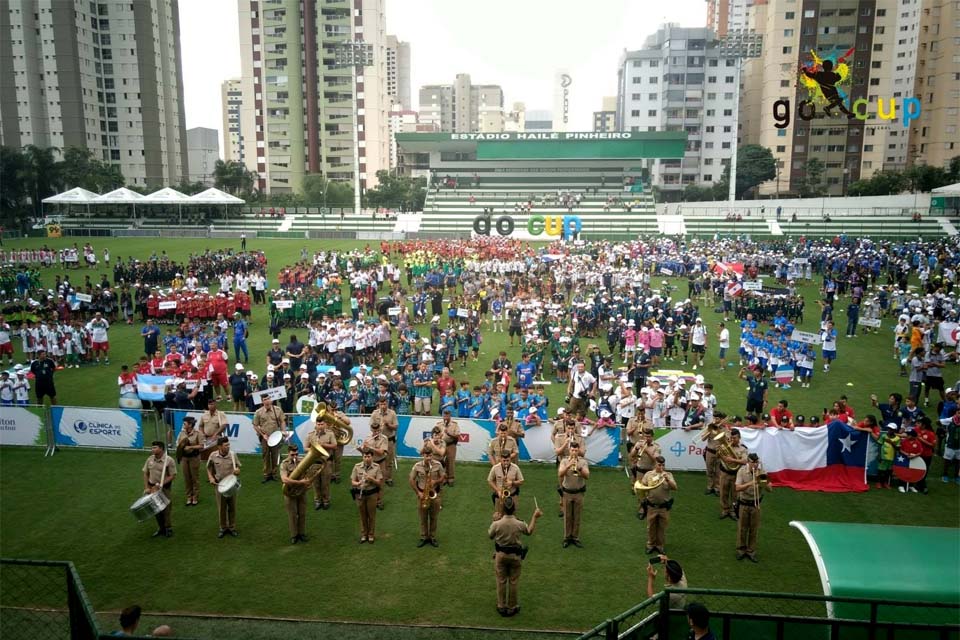
[[[499,84],[505,106],[552,109],[567,69],[571,131],[589,131],[603,96],[616,95],[617,60],[663,22],[702,27],[704,0],[386,0],[387,33],[410,43],[410,88]],[[180,0],[187,127],[222,128],[220,83],[240,76],[237,0]],[[416,104],[414,105],[416,107]]]

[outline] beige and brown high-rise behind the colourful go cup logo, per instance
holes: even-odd
[[[744,66],[741,142],[769,148],[779,169],[775,180],[760,186],[761,194],[801,192],[810,158],[823,162],[822,186],[829,195],[841,195],[851,182],[877,171],[902,170],[909,164],[910,131],[919,121],[910,129],[904,127],[902,109],[924,74],[917,51],[923,36],[921,6],[926,4],[921,0],[755,1],[748,25],[763,35],[764,47],[760,58]],[[812,64],[811,52],[838,62],[846,56],[849,77],[840,89],[850,105],[867,101],[860,108],[865,120],[848,118],[836,109],[829,117],[823,104],[816,105],[811,119],[800,117],[799,105],[810,93],[799,82],[799,67]],[[947,59],[952,56],[951,52]],[[956,71],[955,63],[954,67]],[[948,71],[945,82],[949,75]],[[949,103],[949,93],[945,98]],[[884,119],[880,103],[889,115],[891,100],[897,105],[897,117]],[[773,115],[778,102],[790,105],[789,110],[780,107],[784,117],[779,122]],[[924,114],[927,106],[922,103]],[[949,118],[943,125],[946,130]]]

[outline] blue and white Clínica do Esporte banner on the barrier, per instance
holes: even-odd
[[[60,446],[142,449],[143,421],[135,409],[52,407],[53,434]]]

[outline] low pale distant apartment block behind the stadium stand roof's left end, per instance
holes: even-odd
[[[420,87],[420,121],[452,133],[503,131],[503,90],[494,84],[471,84],[458,73],[453,84]]]

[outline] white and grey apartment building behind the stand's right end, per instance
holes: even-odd
[[[736,132],[735,61],[721,56],[710,29],[663,25],[643,48],[626,51],[617,71],[621,131],[686,131],[682,160],[654,160],[651,181],[666,200],[689,184],[718,182]]]

